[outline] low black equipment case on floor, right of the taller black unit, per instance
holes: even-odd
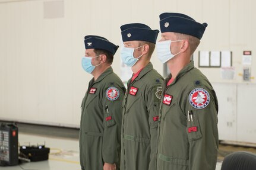
[[[23,153],[31,162],[45,161],[49,158],[50,148],[45,146],[20,146]]]

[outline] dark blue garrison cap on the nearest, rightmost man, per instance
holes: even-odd
[[[179,13],[163,13],[159,15],[160,29],[162,33],[182,33],[201,39],[208,24],[197,23],[188,15]]]

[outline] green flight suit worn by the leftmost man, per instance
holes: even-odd
[[[82,102],[80,164],[85,170],[103,169],[105,162],[119,169],[122,100],[125,86],[108,68],[89,88]]]

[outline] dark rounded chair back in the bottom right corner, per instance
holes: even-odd
[[[255,170],[256,154],[251,152],[233,152],[225,156],[221,170]]]

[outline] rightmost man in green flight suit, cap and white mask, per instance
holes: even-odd
[[[179,13],[160,15],[157,57],[170,75],[163,82],[157,170],[215,170],[219,137],[218,102],[210,82],[191,56],[207,24]]]

